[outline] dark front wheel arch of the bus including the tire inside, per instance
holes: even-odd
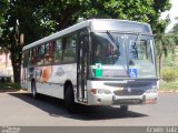
[[[73,86],[71,81],[66,81],[63,86],[63,98],[65,98],[65,105],[70,113],[75,112],[76,103],[75,103],[75,93]]]

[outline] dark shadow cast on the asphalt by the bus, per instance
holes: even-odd
[[[69,113],[62,100],[39,95],[38,99],[33,99],[30,93],[8,93],[12,96],[16,96],[55,117],[70,117],[82,121],[91,120],[109,120],[109,119],[129,119],[129,117],[144,117],[148,116],[138,112],[120,112],[119,108],[113,106],[86,106],[78,105],[76,113]]]

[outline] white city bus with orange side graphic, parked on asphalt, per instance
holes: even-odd
[[[155,41],[148,23],[91,19],[22,49],[21,86],[86,105],[156,103]]]

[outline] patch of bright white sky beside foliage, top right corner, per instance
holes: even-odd
[[[170,0],[170,3],[171,9],[161,13],[161,19],[165,19],[169,14],[171,21],[170,24],[166,28],[166,32],[170,31],[172,27],[178,23],[178,19],[175,19],[176,17],[178,18],[178,0]]]

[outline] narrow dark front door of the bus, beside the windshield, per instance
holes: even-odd
[[[78,47],[77,99],[79,102],[87,102],[88,38],[80,37]]]

